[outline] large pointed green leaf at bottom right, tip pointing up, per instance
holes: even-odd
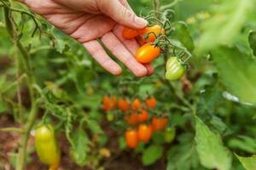
[[[224,147],[217,133],[195,116],[195,149],[204,167],[229,170],[231,167],[230,151]]]

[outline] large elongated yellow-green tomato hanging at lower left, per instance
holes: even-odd
[[[55,131],[51,125],[43,125],[36,129],[35,147],[40,161],[50,167],[58,167],[61,153],[55,139]]]

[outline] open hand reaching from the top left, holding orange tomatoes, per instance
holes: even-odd
[[[148,22],[132,11],[126,0],[20,0],[33,12],[84,45],[104,69],[119,75],[122,68],[104,51],[96,38],[137,77],[150,76],[154,67],[137,62],[140,45],[122,37],[123,26],[143,29]]]

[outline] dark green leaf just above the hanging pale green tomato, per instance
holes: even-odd
[[[183,46],[187,48],[189,51],[193,51],[195,48],[193,38],[189,33],[189,29],[184,22],[178,22],[175,25],[174,37],[177,38],[180,42],[182,42]]]

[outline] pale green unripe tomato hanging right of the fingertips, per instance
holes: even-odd
[[[177,57],[171,57],[167,60],[166,63],[166,79],[173,81],[183,77],[186,69],[185,67],[177,60]]]

